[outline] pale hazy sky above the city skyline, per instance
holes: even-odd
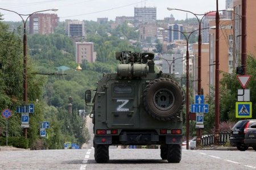
[[[225,9],[225,0],[218,0],[218,10]],[[0,8],[12,10],[18,14],[31,14],[36,11],[59,8],[55,13],[60,21],[66,19],[93,20],[108,18],[115,20],[116,16],[134,16],[134,7],[156,7],[156,19],[164,19],[172,14],[175,20],[194,18],[183,11],[169,11],[167,7],[204,14],[216,11],[216,0],[0,0]],[[0,9],[5,21],[21,21],[19,15]],[[27,16],[23,16],[24,19]]]

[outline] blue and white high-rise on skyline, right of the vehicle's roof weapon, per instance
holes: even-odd
[[[183,34],[183,25],[181,24],[171,24],[169,25],[169,36],[168,42],[174,42],[174,40],[182,40],[184,38]]]

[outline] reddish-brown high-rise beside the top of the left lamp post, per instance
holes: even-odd
[[[58,24],[57,14],[36,13],[30,16],[30,33],[49,35],[54,32]]]

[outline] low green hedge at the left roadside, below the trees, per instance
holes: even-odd
[[[8,137],[8,146],[18,147],[18,148],[28,148],[28,139],[24,137]],[[6,145],[6,138],[0,138],[0,145]]]

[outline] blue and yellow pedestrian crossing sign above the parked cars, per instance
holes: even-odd
[[[236,102],[236,118],[251,118],[252,103],[251,102]]]

